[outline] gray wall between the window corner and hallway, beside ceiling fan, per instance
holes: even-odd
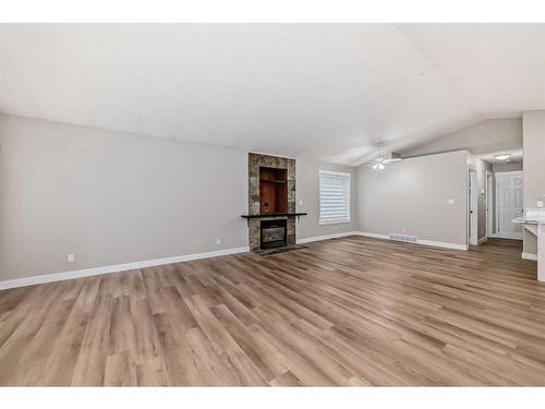
[[[358,168],[360,230],[465,244],[468,156],[459,151],[410,158],[382,173],[365,165]]]

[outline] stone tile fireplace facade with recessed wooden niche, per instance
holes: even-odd
[[[275,172],[275,170],[279,171]],[[295,244],[295,217],[289,216],[289,214],[295,214],[295,159],[250,153],[247,173],[249,215],[261,215],[261,217],[247,218],[250,249],[262,250],[264,238],[262,222],[268,220],[286,220],[286,242],[282,245]],[[276,188],[270,188],[275,185]],[[274,199],[265,199],[266,202],[264,202],[265,194],[270,194],[268,197]],[[269,207],[270,216],[267,216]],[[272,241],[276,241],[277,246],[281,244],[280,240],[267,238],[267,234],[279,233],[279,228],[266,232],[265,238],[268,244],[265,244],[263,249],[269,248]]]

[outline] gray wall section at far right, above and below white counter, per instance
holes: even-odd
[[[524,148],[524,208],[545,200],[545,110],[522,115]],[[524,230],[524,253],[537,253],[535,236]]]

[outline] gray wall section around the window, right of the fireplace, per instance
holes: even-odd
[[[332,170],[351,173],[351,204],[350,222],[319,226],[319,170]],[[355,212],[355,168],[326,164],[323,161],[312,161],[298,159],[296,161],[296,209],[308,212],[308,216],[301,217],[298,238],[306,239],[310,237],[319,237],[327,234],[337,234],[341,232],[355,231],[358,229]],[[299,205],[303,201],[303,206]]]

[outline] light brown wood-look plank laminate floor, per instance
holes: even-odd
[[[0,292],[2,385],[545,385],[518,242],[363,237]]]

